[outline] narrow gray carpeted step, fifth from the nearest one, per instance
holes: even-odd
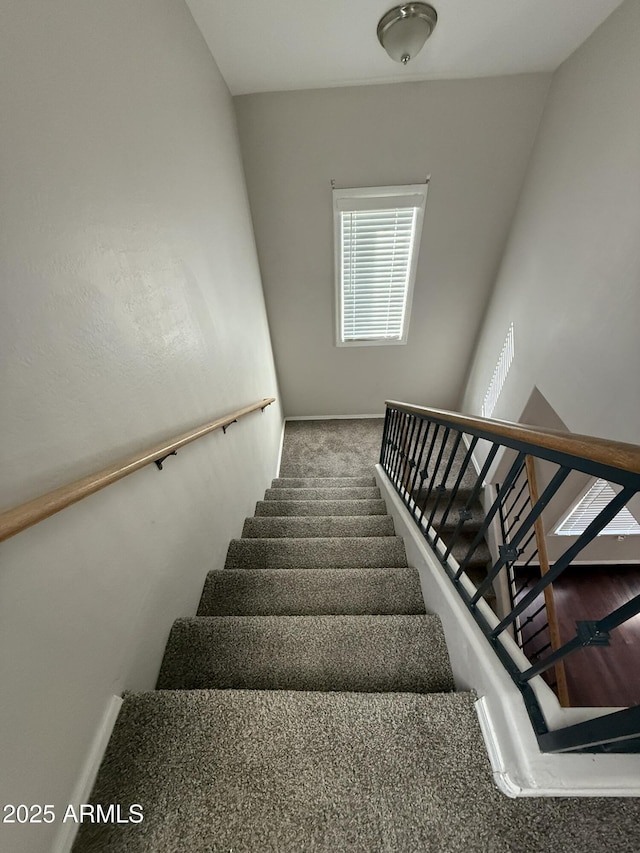
[[[389,515],[264,516],[247,518],[243,539],[317,538],[333,536],[395,536]]]

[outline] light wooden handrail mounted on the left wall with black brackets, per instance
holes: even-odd
[[[224,415],[215,421],[210,421],[188,432],[183,432],[147,450],[136,453],[128,459],[116,462],[115,465],[109,465],[108,468],[103,468],[101,471],[89,474],[81,480],[60,486],[52,492],[47,492],[45,495],[40,495],[38,498],[34,498],[31,501],[20,504],[20,506],[0,513],[0,542],[9,539],[10,536],[15,536],[16,533],[20,533],[22,530],[26,530],[27,527],[32,527],[45,518],[49,518],[49,516],[54,515],[56,512],[60,512],[61,509],[77,503],[83,498],[94,494],[94,492],[99,492],[100,489],[104,489],[112,483],[122,480],[123,477],[133,474],[134,471],[138,471],[145,465],[150,465],[164,456],[170,456],[176,450],[184,447],[185,444],[190,444],[192,441],[202,438],[203,435],[208,435],[214,430],[226,428],[229,424],[232,424],[245,415],[251,414],[251,412],[255,412],[257,409],[265,409],[271,403],[274,403],[275,399],[275,397],[265,397],[258,403],[252,403],[250,406],[245,406],[243,409],[238,409],[236,412]]]

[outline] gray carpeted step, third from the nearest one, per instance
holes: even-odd
[[[198,616],[424,613],[415,569],[222,569],[209,572]]]

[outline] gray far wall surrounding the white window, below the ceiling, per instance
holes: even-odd
[[[234,99],[288,415],[459,403],[548,75]],[[330,180],[431,175],[407,346],[336,347]]]

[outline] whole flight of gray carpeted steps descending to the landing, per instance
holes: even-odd
[[[385,513],[373,478],[273,481],[125,697],[92,799],[144,821],[75,853],[421,849],[421,765],[473,697]]]

